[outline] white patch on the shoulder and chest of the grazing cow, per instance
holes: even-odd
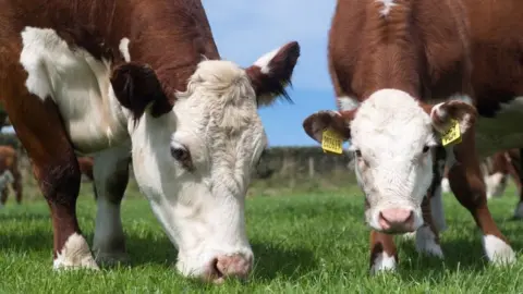
[[[26,27],[22,39],[20,61],[28,73],[27,89],[54,101],[78,151],[95,152],[127,136],[108,62],[82,49],[70,50],[52,29]]]

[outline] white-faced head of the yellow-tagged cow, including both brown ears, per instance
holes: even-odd
[[[340,97],[340,107],[353,108],[313,113],[303,122],[304,131],[321,142],[323,132],[330,128],[351,142],[357,182],[366,196],[365,217],[373,229],[415,231],[423,224],[421,204],[433,180],[430,149],[452,121],[459,123],[462,144],[472,143],[472,136],[463,135],[472,130],[475,108],[453,99],[433,106],[398,89],[380,89],[361,105],[346,101],[357,100]]]

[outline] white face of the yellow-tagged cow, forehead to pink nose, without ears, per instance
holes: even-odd
[[[362,103],[351,135],[366,222],[388,233],[415,231],[423,224],[421,204],[433,177],[431,152],[424,152],[436,145],[429,115],[409,94],[382,89]]]

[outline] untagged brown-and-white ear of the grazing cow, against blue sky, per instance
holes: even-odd
[[[291,84],[292,72],[299,57],[300,45],[292,41],[266,53],[246,69],[256,91],[258,106],[270,105],[278,96],[290,100],[285,87]]]

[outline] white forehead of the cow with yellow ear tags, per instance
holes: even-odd
[[[434,144],[429,115],[412,96],[397,89],[370,95],[351,123],[351,135],[355,148],[376,150],[376,155]]]

